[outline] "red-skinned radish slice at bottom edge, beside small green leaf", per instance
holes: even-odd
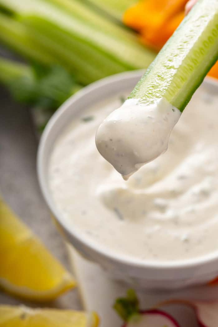
[[[176,320],[160,310],[140,311],[140,315],[123,327],[179,327]]]

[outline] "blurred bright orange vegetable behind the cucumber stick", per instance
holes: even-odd
[[[141,0],[126,9],[124,23],[139,32],[146,46],[159,51],[185,16],[188,0]],[[218,63],[209,74],[218,78]]]

